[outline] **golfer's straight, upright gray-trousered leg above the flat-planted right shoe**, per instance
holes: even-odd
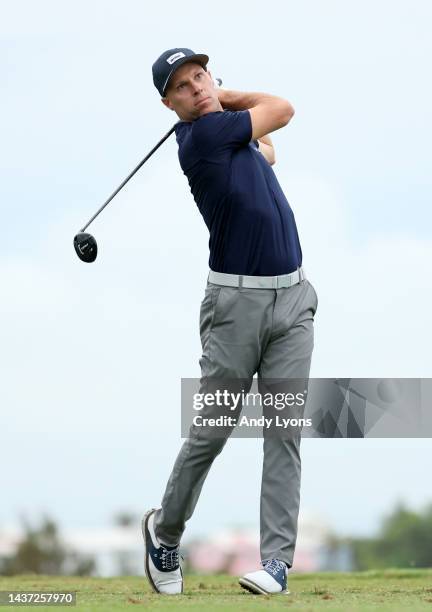
[[[317,309],[314,288],[305,280],[278,289],[273,331],[258,370],[264,391],[272,379],[309,378]],[[261,392],[263,392],[261,391]],[[273,412],[273,416],[275,413]],[[300,434],[264,438],[261,484],[261,559],[292,566],[300,504]]]

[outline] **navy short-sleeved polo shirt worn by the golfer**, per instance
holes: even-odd
[[[179,121],[175,132],[181,168],[210,232],[210,269],[276,276],[301,266],[294,214],[251,142],[249,111]]]

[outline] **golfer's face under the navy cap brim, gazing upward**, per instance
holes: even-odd
[[[178,68],[170,78],[162,102],[182,121],[194,121],[223,110],[210,72],[193,62]]]

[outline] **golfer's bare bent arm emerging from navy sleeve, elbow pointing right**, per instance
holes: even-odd
[[[252,140],[260,139],[270,132],[288,124],[294,108],[283,98],[258,92],[241,92],[218,89],[219,102],[227,110],[249,110],[252,121]]]

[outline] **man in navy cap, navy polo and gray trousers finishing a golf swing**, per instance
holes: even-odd
[[[288,124],[294,109],[269,94],[217,88],[208,60],[176,48],[153,64],[162,102],[180,119],[180,164],[210,232],[200,311],[202,388],[218,377],[246,380],[250,388],[256,372],[262,384],[307,379],[318,300],[301,267],[294,215],[270,167],[275,159],[268,137]],[[183,591],[180,538],[225,442],[192,426],[161,508],[144,516],[145,571],[158,593]],[[300,435],[265,437],[263,450],[262,568],[239,582],[252,593],[287,593],[300,501]]]

